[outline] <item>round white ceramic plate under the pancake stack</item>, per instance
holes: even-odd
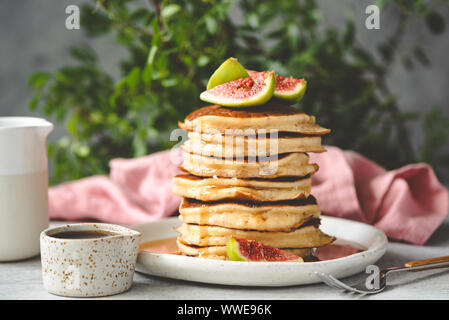
[[[142,242],[175,237],[177,217],[135,225]],[[365,251],[344,258],[319,262],[242,262],[201,259],[140,251],[136,271],[154,276],[239,286],[292,286],[320,282],[315,271],[343,278],[362,272],[387,249],[385,234],[370,225],[322,216],[321,227],[337,239],[359,244]],[[338,240],[337,240],[338,241]]]

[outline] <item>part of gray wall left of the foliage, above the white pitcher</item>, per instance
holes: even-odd
[[[88,39],[80,30],[67,30],[65,8],[81,5],[80,0],[1,0],[0,1],[0,116],[41,116],[28,110],[32,92],[31,73],[53,71],[73,63],[70,47],[88,43],[99,54],[102,66],[116,76],[118,61],[126,51],[113,39]],[[61,124],[49,139],[64,135]]]

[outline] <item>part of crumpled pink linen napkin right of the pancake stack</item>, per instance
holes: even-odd
[[[324,214],[372,224],[391,239],[420,245],[448,214],[449,193],[429,165],[387,171],[357,152],[326,149],[310,154],[320,167],[312,193]]]

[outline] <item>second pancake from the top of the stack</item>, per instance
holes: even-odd
[[[206,134],[189,132],[189,139],[182,150],[203,156],[230,158],[270,156],[290,152],[324,152],[321,136],[269,133],[262,136]]]

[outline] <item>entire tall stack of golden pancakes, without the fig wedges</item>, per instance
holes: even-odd
[[[319,229],[310,194],[318,170],[307,152],[323,152],[330,130],[297,109],[268,103],[251,108],[207,106],[179,123],[188,131],[173,192],[183,197],[177,243],[181,254],[227,259],[231,236],[301,257],[333,237]]]

